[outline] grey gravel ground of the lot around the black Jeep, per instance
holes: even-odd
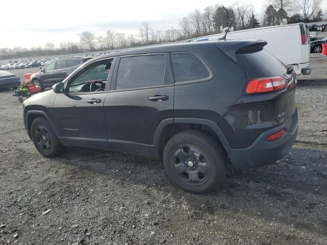
[[[0,244],[327,244],[327,86],[298,87],[298,140],[281,163],[230,169],[205,195],[141,157],[41,157],[12,92],[0,92]]]

